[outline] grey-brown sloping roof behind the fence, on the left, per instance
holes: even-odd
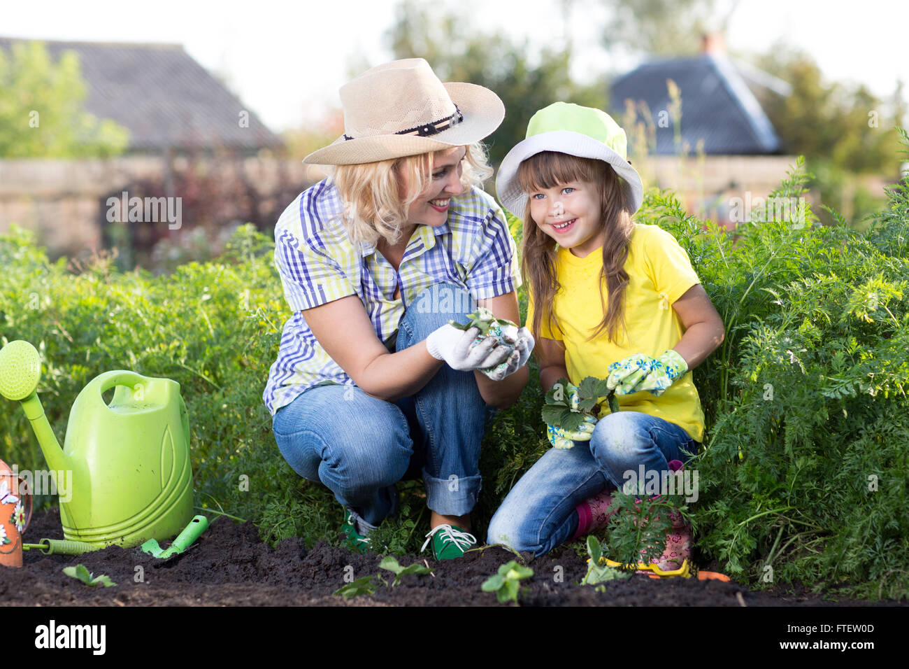
[[[283,146],[281,138],[183,46],[0,37],[0,48],[10,56],[10,47],[25,41],[44,42],[55,59],[64,51],[75,51],[87,83],[87,110],[128,128],[130,151],[157,152],[170,145],[251,152]],[[244,110],[249,111],[249,127],[239,125]]]

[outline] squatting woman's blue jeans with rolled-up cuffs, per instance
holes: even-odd
[[[469,294],[452,284],[426,290],[432,291],[429,299],[421,293],[398,324],[395,350],[425,340],[449,319],[466,322],[464,314],[475,308]],[[445,290],[454,292],[445,296]],[[493,415],[474,372],[444,364],[422,390],[396,402],[356,386],[315,386],[278,410],[272,427],[294,471],[322,481],[365,534],[396,511],[395,482],[405,474],[420,478],[422,471],[430,510],[469,513],[480,492],[480,442]]]

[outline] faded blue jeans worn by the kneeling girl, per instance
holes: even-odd
[[[534,556],[553,550],[577,531],[579,503],[619,488],[625,471],[668,471],[686,462],[698,444],[674,423],[638,411],[620,411],[596,423],[590,441],[546,451],[521,477],[489,522],[487,543],[504,543]],[[686,452],[683,452],[686,451]]]

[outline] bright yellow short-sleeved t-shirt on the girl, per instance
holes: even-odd
[[[682,321],[672,305],[701,282],[688,254],[671,234],[656,226],[635,225],[624,264],[629,279],[624,292],[627,337],[620,327],[617,335],[620,345],[616,346],[605,333],[587,340],[604,316],[599,290],[602,270],[600,248],[585,258],[575,257],[567,248],[558,249],[555,272],[561,288],[555,294],[553,312],[560,328],[549,329],[544,321],[541,334],[564,344],[565,369],[574,385],[588,376],[605,379],[609,365],[634,353],[658,358],[665,350],[672,349],[684,334]],[[603,299],[608,303],[605,282]],[[528,327],[533,318],[531,296]],[[694,441],[704,439],[704,411],[690,371],[659,397],[647,390],[616,397],[623,411],[657,416],[680,426]],[[609,412],[606,402],[602,407],[601,415]]]

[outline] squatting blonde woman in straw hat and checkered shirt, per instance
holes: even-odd
[[[519,319],[514,240],[476,188],[491,174],[478,143],[504,106],[482,86],[443,84],[422,58],[368,70],[341,100],[344,136],[304,160],[333,176],[275,228],[294,315],[265,404],[285,460],[345,506],[348,545],[365,549],[395,512],[395,482],[422,470],[426,542],[457,557],[476,542],[487,405],[517,400],[534,347],[527,329],[512,351],[447,324],[476,305]]]

